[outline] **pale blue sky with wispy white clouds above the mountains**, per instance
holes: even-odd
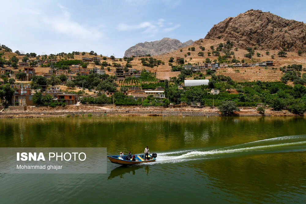
[[[36,54],[90,52],[123,57],[137,43],[204,38],[249,9],[306,22],[306,1],[0,0],[0,44]]]

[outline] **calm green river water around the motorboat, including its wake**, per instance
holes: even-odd
[[[0,119],[0,147],[107,147],[106,174],[0,174],[0,203],[305,203],[305,117]]]

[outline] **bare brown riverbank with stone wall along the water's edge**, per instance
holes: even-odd
[[[140,106],[82,106],[50,107],[10,106],[0,112],[0,118],[12,117],[77,117],[77,116],[221,116],[218,109],[210,107],[140,107]],[[259,114],[255,107],[240,108],[233,116],[296,116],[289,111],[266,109]]]

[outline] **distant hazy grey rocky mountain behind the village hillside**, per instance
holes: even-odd
[[[138,54],[151,54],[151,56],[159,55],[177,50],[180,47],[192,45],[192,43],[192,40],[188,40],[185,43],[181,43],[181,41],[177,39],[163,38],[161,40],[156,40],[152,42],[137,43],[136,45],[127,49],[124,53],[124,56],[130,57],[131,55]]]

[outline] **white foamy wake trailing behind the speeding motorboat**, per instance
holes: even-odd
[[[177,163],[199,159],[216,159],[250,154],[267,154],[293,151],[306,151],[306,135],[276,137],[219,148],[215,150],[197,149],[160,153],[157,152],[156,161],[146,164],[153,165],[156,163]]]

